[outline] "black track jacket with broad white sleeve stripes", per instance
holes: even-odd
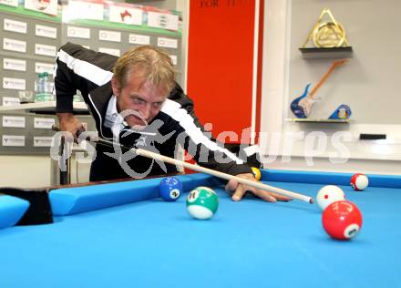
[[[57,113],[73,111],[73,97],[79,90],[89,112],[96,121],[99,137],[104,139],[113,139],[111,129],[104,126],[104,119],[108,101],[113,95],[110,80],[117,59],[118,57],[95,52],[72,43],[61,46],[57,53],[55,73]],[[150,129],[151,124],[159,120],[162,122],[158,123],[162,123],[162,125],[157,125],[157,130],[152,130],[152,133],[145,131],[147,134],[145,141],[141,134],[143,131],[125,133],[130,130],[129,127],[126,127],[120,133],[120,142],[129,147],[139,147],[140,143],[141,147],[139,148],[142,149],[149,149],[149,145],[153,145],[150,150],[157,149],[160,154],[169,157],[175,156],[177,142],[180,142],[180,145],[194,157],[200,166],[231,175],[252,173],[242,159],[237,158],[229,150],[221,148],[203,133],[200,122],[194,114],[192,100],[183,93],[178,84],[163,103],[159,114],[149,123]],[[159,133],[158,136],[163,140],[162,143],[159,139],[151,139],[151,135],[155,134],[153,132]],[[121,137],[124,134],[129,135]],[[170,137],[163,138],[166,135],[170,135]],[[142,139],[139,140],[141,136]],[[99,145],[97,149],[99,152]],[[117,160],[116,163],[118,163]],[[149,160],[142,157],[135,157],[129,161],[131,167],[147,165],[149,165]]]

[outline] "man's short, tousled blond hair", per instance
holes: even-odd
[[[175,72],[170,55],[158,47],[135,46],[118,58],[113,68],[118,90],[127,85],[134,71],[140,71],[147,82],[165,87],[169,92],[175,86]]]

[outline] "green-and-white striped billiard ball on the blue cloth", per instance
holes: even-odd
[[[210,219],[219,208],[219,197],[208,187],[191,190],[187,197],[187,210],[195,219]]]

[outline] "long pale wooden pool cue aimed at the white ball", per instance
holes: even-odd
[[[53,125],[52,129],[55,130],[55,131],[59,131],[60,130],[54,125]],[[157,160],[160,160],[162,162],[166,162],[166,163],[169,163],[169,164],[172,164],[172,165],[176,165],[176,166],[180,165],[180,166],[183,166],[184,168],[187,168],[187,169],[190,169],[190,170],[194,170],[194,171],[197,171],[197,172],[200,172],[200,173],[209,174],[209,175],[221,178],[221,179],[236,180],[241,184],[248,185],[248,186],[251,186],[251,187],[254,187],[254,188],[275,192],[275,193],[278,193],[278,194],[281,194],[281,195],[284,195],[284,196],[288,196],[288,197],[291,197],[291,198],[299,200],[299,201],[305,201],[305,202],[308,202],[308,203],[311,203],[311,204],[314,203],[314,199],[313,198],[311,198],[309,196],[306,196],[306,195],[303,195],[303,194],[300,194],[300,193],[295,193],[295,192],[292,192],[292,191],[289,191],[289,190],[283,190],[281,188],[276,188],[276,187],[273,187],[273,186],[270,186],[270,185],[267,185],[267,184],[263,184],[262,182],[256,182],[256,181],[252,181],[252,180],[247,180],[247,179],[243,179],[243,178],[238,177],[238,176],[233,176],[233,175],[230,175],[230,174],[227,174],[227,173],[223,173],[223,172],[220,172],[220,171],[211,170],[209,168],[204,168],[204,167],[201,167],[199,165],[194,165],[194,164],[191,164],[191,163],[179,160],[179,159],[173,159],[173,158],[170,158],[170,157],[167,157],[167,156],[164,156],[164,155],[160,155],[158,153],[151,152],[151,151],[148,151],[148,150],[145,150],[145,149],[129,148],[129,147],[124,146],[122,144],[115,143],[113,141],[110,141],[110,140],[107,140],[107,139],[101,139],[101,138],[98,138],[98,139],[95,139],[95,140],[92,140],[92,141],[93,142],[97,142],[98,144],[101,144],[101,145],[108,146],[108,147],[118,146],[121,149],[127,149],[127,150],[131,151],[132,153],[137,153],[139,156],[143,156],[143,157],[146,157],[146,158],[149,158],[149,159],[157,159]]]

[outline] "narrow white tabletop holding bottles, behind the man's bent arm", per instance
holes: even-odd
[[[87,110],[87,105],[85,102],[74,102],[74,114],[87,115],[89,111]],[[26,103],[16,106],[0,106],[0,112],[3,111],[21,111],[36,113],[36,114],[56,114],[56,101],[50,102],[35,102]]]

